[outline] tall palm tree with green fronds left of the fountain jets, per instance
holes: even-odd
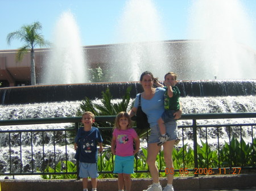
[[[21,61],[24,54],[27,54],[30,51],[30,61],[31,61],[31,85],[36,84],[35,77],[35,52],[34,48],[36,45],[48,46],[48,41],[44,40],[43,35],[39,31],[41,31],[42,25],[39,22],[35,22],[30,25],[22,26],[18,31],[11,32],[7,35],[6,40],[7,44],[11,44],[11,40],[19,39],[24,43],[24,45],[19,48],[18,53],[16,54],[16,61]]]

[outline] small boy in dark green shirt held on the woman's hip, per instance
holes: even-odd
[[[170,136],[166,134],[166,126],[164,125],[165,122],[173,121],[174,120],[174,113],[180,109],[180,91],[177,86],[177,74],[170,72],[164,75],[164,84],[166,85],[164,88],[166,92],[164,92],[164,113],[162,117],[158,120],[158,126],[160,130],[160,137],[158,146],[163,145]],[[159,82],[155,82],[156,86],[163,87],[162,84]],[[180,142],[180,139],[177,138],[175,140],[175,145]]]

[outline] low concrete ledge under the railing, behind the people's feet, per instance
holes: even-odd
[[[176,177],[175,190],[218,190],[218,189],[245,189],[256,187],[256,174],[250,175],[225,175],[225,176],[200,176]],[[151,179],[133,179],[131,190],[140,191],[147,189]],[[165,178],[160,179],[164,187]],[[92,188],[89,182],[89,189]],[[81,180],[1,180],[1,191],[80,191]],[[97,189],[104,191],[118,190],[117,179],[98,179]]]

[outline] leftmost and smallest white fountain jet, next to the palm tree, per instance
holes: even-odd
[[[52,51],[44,69],[43,83],[67,84],[87,81],[86,61],[82,50],[79,27],[71,12],[57,20]]]

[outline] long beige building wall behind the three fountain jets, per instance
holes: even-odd
[[[172,68],[175,68],[176,73],[179,74],[179,79],[191,79],[195,76],[191,74],[191,67],[195,70],[195,66],[199,65],[200,49],[193,55],[189,53],[189,49],[195,46],[200,47],[201,41],[198,40],[168,40],[155,42],[163,44],[167,50],[167,60]],[[126,44],[109,44],[109,45],[94,45],[83,46],[86,62],[89,68],[100,66],[106,69],[111,63],[112,55],[116,49],[121,48]],[[154,46],[154,43],[152,43]],[[256,52],[243,46],[246,51],[254,55],[256,62]],[[40,82],[42,76],[44,63],[49,57],[49,49],[35,49],[35,67],[36,67],[36,82]],[[28,53],[22,62],[15,61],[16,50],[0,50],[0,82],[4,82],[4,86],[17,86],[22,83],[30,84],[30,53]],[[116,61],[115,62],[120,62]],[[18,84],[19,83],[19,84]]]

